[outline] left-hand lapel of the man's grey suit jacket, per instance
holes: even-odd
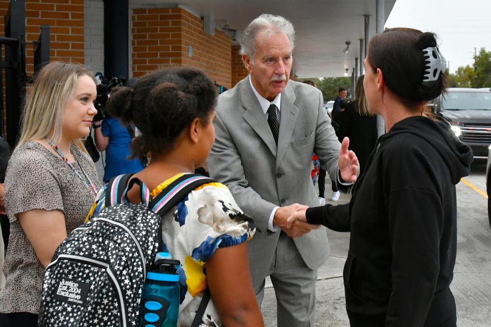
[[[261,105],[259,104],[258,98],[252,91],[249,83],[249,76],[241,81],[240,91],[242,106],[246,108],[246,111],[242,117],[252,127],[252,129],[254,129],[264,143],[266,143],[273,156],[276,156],[276,144],[274,143],[273,134],[271,133],[271,129],[269,128],[268,121],[266,120],[266,116],[264,115]],[[281,124],[282,122],[280,123],[280,137]]]

